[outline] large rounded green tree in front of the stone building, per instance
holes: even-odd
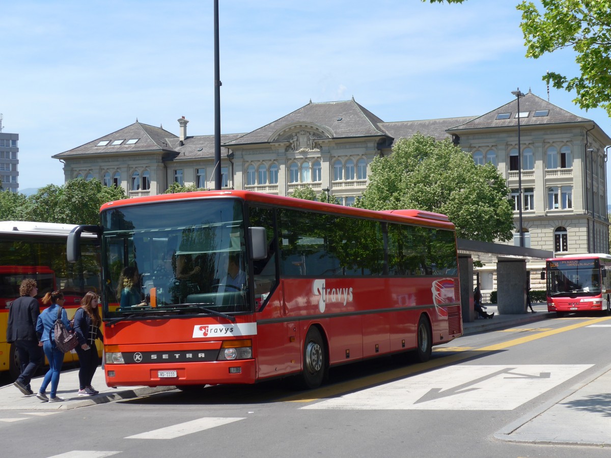
[[[510,190],[492,164],[476,165],[450,140],[420,133],[400,139],[390,156],[371,163],[362,208],[415,208],[442,213],[458,237],[492,242],[513,236]]]

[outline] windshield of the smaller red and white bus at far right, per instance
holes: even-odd
[[[551,297],[601,294],[598,259],[547,261],[547,291]],[[585,294],[583,294],[585,293]]]

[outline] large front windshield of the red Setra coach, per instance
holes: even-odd
[[[104,318],[250,310],[240,200],[127,205],[101,218]]]

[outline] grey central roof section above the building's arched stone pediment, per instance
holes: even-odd
[[[365,107],[352,100],[320,102],[302,106],[274,122],[227,142],[236,145],[268,143],[284,126],[320,126],[331,138],[386,136],[379,124],[383,121]]]

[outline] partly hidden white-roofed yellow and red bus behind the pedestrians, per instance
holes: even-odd
[[[36,299],[43,310],[42,297],[60,289],[64,308],[72,317],[87,291],[100,291],[100,256],[95,236],[81,239],[82,257],[78,263],[66,260],[66,240],[75,225],[26,221],[0,221],[0,371],[15,379],[20,373],[15,346],[6,341],[9,308],[19,297],[24,278],[38,284]],[[98,349],[101,351],[101,345]],[[64,361],[76,360],[67,353]]]

